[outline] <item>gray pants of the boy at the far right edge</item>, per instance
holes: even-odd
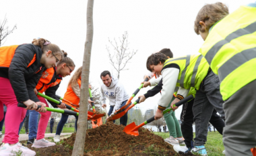
[[[226,127],[223,143],[226,156],[253,155],[256,146],[256,80],[224,102]]]

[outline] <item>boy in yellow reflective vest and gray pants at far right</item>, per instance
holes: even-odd
[[[201,8],[195,32],[204,44],[199,52],[220,78],[226,113],[226,155],[252,155],[256,146],[256,2],[228,15],[223,3]]]

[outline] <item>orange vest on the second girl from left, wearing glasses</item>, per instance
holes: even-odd
[[[55,82],[51,83],[53,76],[55,76],[54,68],[49,68],[49,69],[44,70],[44,72],[42,72],[42,76],[41,76],[40,80],[38,81],[38,84],[36,85],[36,90],[40,93],[43,93],[43,92],[45,92],[45,90],[47,88],[56,86],[57,84],[59,84],[61,82],[61,79],[57,78],[57,80]]]

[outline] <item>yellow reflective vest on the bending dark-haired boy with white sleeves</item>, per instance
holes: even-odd
[[[186,89],[194,87],[199,90],[199,86],[209,70],[209,65],[202,55],[169,58],[164,62],[164,67],[169,64],[177,64],[179,66],[180,72],[176,86]]]

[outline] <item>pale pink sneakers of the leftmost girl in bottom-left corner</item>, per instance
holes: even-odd
[[[9,143],[5,143],[5,145],[1,146],[0,149],[1,156],[14,156],[14,155],[22,155],[22,156],[34,156],[36,155],[35,151],[28,149],[27,147],[22,146],[20,143],[16,143],[13,146],[10,146]]]

